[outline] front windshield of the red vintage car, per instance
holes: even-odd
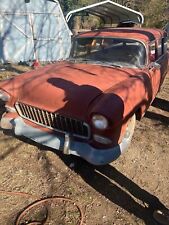
[[[83,37],[74,40],[70,57],[79,61],[102,62],[121,67],[141,67],[146,62],[146,50],[136,40]]]

